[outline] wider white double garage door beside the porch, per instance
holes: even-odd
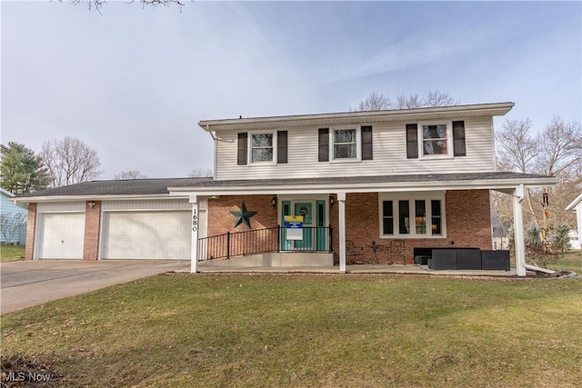
[[[107,212],[104,259],[190,259],[190,212]]]

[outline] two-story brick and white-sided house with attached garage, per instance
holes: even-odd
[[[19,197],[34,241],[26,258],[191,258],[196,272],[199,260],[275,250],[266,261],[286,265],[308,251],[345,272],[346,248],[364,247],[358,261],[373,263],[371,245],[398,240],[412,263],[415,248],[491,249],[497,190],[514,197],[525,275],[521,201],[527,187],[557,179],[496,171],[493,117],[513,105],[201,121],[215,141],[214,178],[89,182]],[[303,224],[288,219],[299,215]]]

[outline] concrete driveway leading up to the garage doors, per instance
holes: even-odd
[[[155,274],[189,270],[189,261],[36,260],[0,264],[2,313]]]

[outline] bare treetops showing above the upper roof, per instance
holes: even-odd
[[[428,92],[427,95],[398,95],[392,102],[386,95],[372,92],[365,100],[357,104],[357,111],[377,111],[385,109],[414,109],[433,106],[450,106],[460,104],[448,93]]]

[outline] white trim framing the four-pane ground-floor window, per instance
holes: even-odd
[[[378,234],[381,239],[400,238],[400,239],[443,239],[447,238],[447,192],[411,192],[411,193],[380,193],[378,195]],[[415,216],[409,217],[409,234],[400,234],[398,227],[398,201],[408,201],[409,214],[415,213],[416,201],[425,201],[426,221],[432,218],[431,201],[440,201],[440,219],[441,219],[441,234],[416,234]],[[392,219],[394,234],[384,234],[384,201],[392,201]],[[428,229],[428,228],[426,228]]]

